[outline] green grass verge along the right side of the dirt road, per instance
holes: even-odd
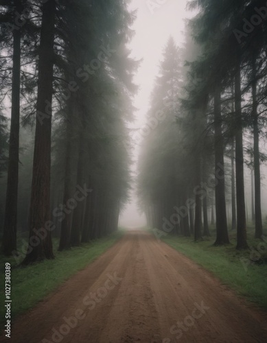
[[[236,250],[235,237],[230,233],[231,244],[213,246],[214,237],[194,242],[192,237],[167,235],[163,241],[189,257],[198,265],[217,276],[222,284],[227,285],[247,300],[267,309],[267,241],[260,243],[253,239],[253,232],[248,232],[250,250]],[[261,244],[259,246],[259,244]],[[264,254],[265,249],[265,254]],[[259,254],[259,251],[261,254]],[[253,260],[258,259],[257,262]]]

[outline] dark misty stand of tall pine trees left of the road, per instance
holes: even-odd
[[[128,1],[0,1],[1,252],[54,259],[117,230],[128,200]],[[10,106],[10,123],[7,108]]]

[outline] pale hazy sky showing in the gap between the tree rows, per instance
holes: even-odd
[[[132,0],[130,5],[131,10],[138,11],[137,19],[132,26],[135,36],[130,43],[130,49],[133,58],[143,60],[135,76],[135,83],[139,86],[134,104],[137,108],[133,125],[135,128],[141,128],[146,123],[150,93],[159,71],[163,48],[170,36],[173,36],[177,45],[183,45],[184,19],[191,16],[185,9],[187,0],[159,0],[159,3],[163,4],[155,5],[154,11],[149,7],[149,3],[157,4],[157,0]],[[135,148],[135,158],[137,155],[138,146]],[[146,220],[137,211],[135,196],[132,196],[132,203],[121,214],[119,225],[137,227],[145,224]]]

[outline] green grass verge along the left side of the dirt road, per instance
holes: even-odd
[[[71,248],[62,252],[54,251],[56,259],[47,260],[27,267],[16,265],[13,257],[0,258],[0,270],[3,275],[5,263],[11,264],[11,299],[12,299],[12,320],[19,314],[23,314],[28,309],[34,307],[45,296],[54,291],[60,284],[64,283],[73,274],[82,270],[93,262],[97,257],[103,254],[108,248],[111,248],[121,236],[124,230],[118,230],[116,233],[102,239],[96,239],[90,244],[84,244],[77,248]],[[58,244],[54,241],[54,247]],[[4,285],[4,276],[1,278]],[[1,287],[0,299],[0,323],[5,322],[4,288]]]

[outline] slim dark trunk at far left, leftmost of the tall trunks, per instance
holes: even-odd
[[[21,0],[16,0],[15,12],[21,13]],[[3,255],[11,256],[16,251],[16,221],[19,185],[19,117],[21,91],[21,30],[13,30],[12,108],[10,145],[8,159],[8,185],[5,199],[3,226]]]

